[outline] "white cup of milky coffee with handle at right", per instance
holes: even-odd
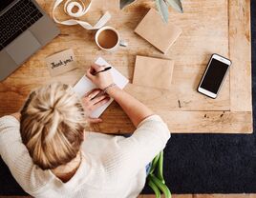
[[[117,50],[120,46],[127,47],[128,45],[125,41],[120,40],[118,31],[110,26],[97,30],[95,39],[98,48],[111,52]]]

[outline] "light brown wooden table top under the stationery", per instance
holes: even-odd
[[[48,13],[52,11],[53,1],[38,0],[38,3]],[[94,0],[92,10],[84,18],[94,24],[102,10],[109,10],[113,17],[108,24],[119,30],[129,47],[115,53],[105,52],[97,49],[94,30],[60,25],[61,34],[51,44],[35,53],[0,84],[0,115],[18,110],[30,90],[38,86],[53,81],[74,85],[97,56],[102,56],[131,80],[135,58],[139,54],[175,60],[170,91],[135,85],[126,88],[159,113],[172,132],[251,133],[250,1],[220,0],[217,4],[216,1],[186,0],[182,3],[184,13],[171,10],[169,21],[180,26],[183,32],[176,44],[163,55],[133,32],[147,10],[154,6],[153,1],[139,0],[125,10],[119,10],[118,0]],[[57,11],[60,19],[67,18],[63,10]],[[79,69],[51,77],[45,57],[69,48],[75,51]],[[214,52],[233,62],[224,87],[215,100],[196,91],[207,61]],[[102,118],[104,123],[94,126],[94,129],[113,133],[134,130],[115,103]]]

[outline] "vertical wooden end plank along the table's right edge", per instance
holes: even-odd
[[[250,1],[229,2],[230,110],[251,111]]]

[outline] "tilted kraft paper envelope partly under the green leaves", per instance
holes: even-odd
[[[139,23],[135,32],[161,52],[166,53],[181,35],[182,30],[170,23],[164,23],[158,11],[151,9]]]

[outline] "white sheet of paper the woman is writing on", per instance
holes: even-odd
[[[117,84],[118,88],[123,89],[129,80],[125,78],[117,69],[115,69],[113,66],[108,64],[103,58],[99,57],[96,60],[96,64],[99,66],[108,66],[112,67],[110,69],[111,74],[113,76],[114,82]],[[92,83],[92,81],[87,78],[86,76],[83,76],[75,85],[74,87],[75,92],[80,96],[84,96],[85,93],[89,92],[92,89],[96,89],[96,86]],[[105,105],[99,107],[98,109],[94,110],[92,114],[90,115],[92,118],[98,118],[102,112],[109,107],[109,105],[112,103],[113,99],[111,98],[108,103]]]

